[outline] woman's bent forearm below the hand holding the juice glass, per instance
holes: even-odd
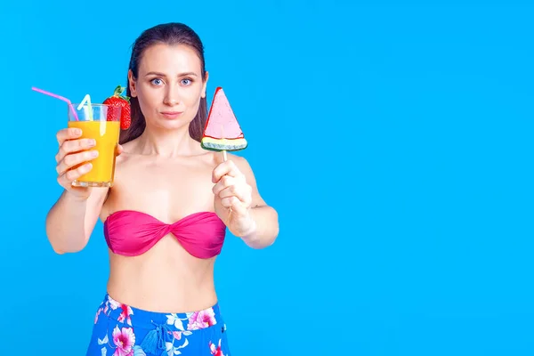
[[[77,252],[85,247],[87,200],[61,194],[46,216],[46,235],[58,254]]]

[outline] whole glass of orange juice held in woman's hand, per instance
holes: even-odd
[[[75,187],[111,187],[115,175],[118,136],[120,134],[120,108],[105,104],[72,104],[69,108],[69,127],[82,130],[81,139],[93,139],[98,157],[91,163],[93,169],[72,182]],[[73,111],[76,112],[76,116]],[[85,165],[83,162],[80,165]]]

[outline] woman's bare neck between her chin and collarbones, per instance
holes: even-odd
[[[139,153],[142,155],[156,155],[164,158],[191,156],[198,153],[200,143],[193,140],[189,134],[189,125],[175,130],[147,127],[139,136]]]

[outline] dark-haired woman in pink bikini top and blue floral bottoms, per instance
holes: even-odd
[[[142,33],[128,70],[132,124],[121,132],[109,190],[71,186],[91,169],[71,169],[90,162],[91,142],[74,129],[57,135],[65,190],[47,216],[48,239],[58,254],[80,251],[100,217],[109,245],[88,355],[230,354],[214,290],[224,232],[263,248],[279,223],[246,159],[201,148],[207,79],[192,29],[170,23]]]

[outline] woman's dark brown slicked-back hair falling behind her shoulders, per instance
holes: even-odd
[[[132,70],[134,78],[139,75],[139,63],[142,60],[144,51],[153,44],[187,44],[193,48],[200,59],[200,66],[202,70],[202,79],[206,80],[206,64],[204,61],[204,45],[200,41],[197,33],[189,26],[182,23],[171,22],[161,24],[153,28],[146,29],[142,32],[132,46],[132,56],[130,57],[130,65],[128,69]],[[126,77],[126,83],[128,78]],[[126,96],[130,97],[130,104],[132,106],[132,124],[127,130],[121,130],[119,142],[121,144],[129,142],[139,137],[145,127],[145,117],[142,115],[141,107],[137,98],[132,98],[130,85],[126,85]],[[200,142],[206,125],[207,104],[206,98],[200,99],[198,112],[193,121],[190,123],[190,136]]]

